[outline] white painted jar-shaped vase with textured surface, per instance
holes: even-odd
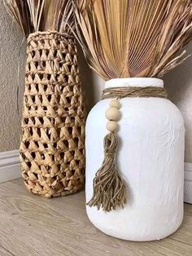
[[[156,78],[122,78],[113,86],[159,86]],[[105,112],[111,99],[98,102],[86,123],[86,201],[93,194],[93,179],[103,163]],[[129,188],[124,209],[105,213],[86,206],[89,220],[110,236],[129,241],[163,239],[177,230],[183,218],[184,121],[168,99],[120,99],[118,170]]]

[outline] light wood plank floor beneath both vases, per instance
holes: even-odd
[[[0,256],[192,255],[192,205],[163,241],[129,242],[99,232],[85,214],[84,192],[46,200],[21,179],[0,184]]]

